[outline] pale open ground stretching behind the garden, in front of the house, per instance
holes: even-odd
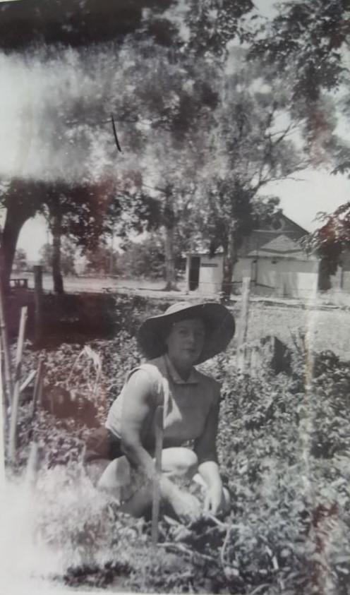
[[[32,275],[28,274],[29,287],[32,287]],[[131,303],[137,296],[149,299],[147,313],[152,308],[160,312],[169,303],[176,300],[200,301],[203,296],[198,292],[186,292],[185,282],[179,282],[179,292],[164,292],[164,281],[126,280],[113,277],[87,278],[66,277],[66,292],[78,294],[116,294],[130,297]],[[44,291],[52,292],[52,277],[44,275]],[[347,297],[347,296],[346,296]],[[205,296],[205,299],[217,300],[217,296]],[[345,299],[345,297],[344,297]],[[344,300],[343,300],[344,301]],[[103,306],[102,306],[103,307]],[[241,308],[240,296],[235,296],[231,308],[239,324]],[[327,296],[320,296],[318,303],[302,303],[296,299],[263,299],[252,296],[248,322],[248,342],[266,335],[276,335],[286,344],[293,344],[293,335],[300,337],[310,332],[315,351],[330,349],[337,356],[350,359],[350,309],[327,305]],[[87,337],[88,339],[88,337]]]

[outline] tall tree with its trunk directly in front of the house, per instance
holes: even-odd
[[[234,265],[244,236],[258,217],[272,216],[277,205],[275,199],[264,200],[260,190],[307,164],[292,140],[296,124],[286,118],[283,91],[271,83],[256,90],[257,80],[256,73],[248,73],[244,63],[227,78],[217,113],[213,160],[216,169],[221,164],[221,172],[207,172],[201,193],[203,233],[211,240],[212,253],[219,246],[224,251],[223,301],[231,294]]]

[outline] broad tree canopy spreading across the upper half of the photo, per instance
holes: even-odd
[[[350,162],[323,93],[344,82],[344,1],[289,1],[260,28],[251,0],[139,8],[123,39],[25,53],[35,83],[20,114],[28,155],[1,200],[32,199],[13,198],[8,212],[7,276],[21,225],[41,211],[57,255],[61,236],[91,250],[106,234],[162,228],[167,287],[176,237],[191,230],[195,243],[199,231],[227,252],[229,287],[244,234],[277,208],[260,189],[317,161],[313,131],[323,134],[318,164],[325,154],[334,167]]]

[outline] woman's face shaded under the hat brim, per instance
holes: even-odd
[[[172,325],[165,344],[171,361],[182,366],[193,366],[198,360],[205,341],[205,325],[201,318],[180,320]]]

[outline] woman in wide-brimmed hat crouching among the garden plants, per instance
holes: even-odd
[[[145,320],[138,343],[147,363],[128,375],[109,411],[107,442],[87,450],[87,460],[104,460],[97,485],[114,493],[121,510],[143,515],[152,503],[155,464],[155,411],[164,406],[162,476],[164,505],[184,519],[200,514],[200,503],[185,491],[195,479],[205,488],[205,510],[227,510],[229,495],[222,485],[215,441],[219,415],[219,384],[193,366],[226,349],[234,335],[234,317],[219,303],[181,302],[164,314]],[[193,449],[183,447],[193,442]],[[97,457],[94,455],[94,452]],[[107,453],[107,454],[106,454]]]

